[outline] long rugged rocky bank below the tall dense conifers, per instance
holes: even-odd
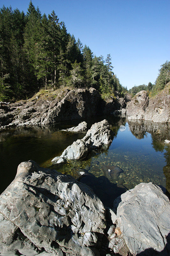
[[[41,95],[42,96],[42,95]],[[89,118],[97,114],[111,114],[124,108],[123,98],[104,101],[94,88],[65,88],[44,97],[34,96],[29,100],[21,100],[0,106],[0,128],[47,125],[62,121]]]

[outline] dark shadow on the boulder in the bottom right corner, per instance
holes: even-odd
[[[154,250],[153,248],[148,248],[143,252],[137,253],[137,256],[169,256],[170,255],[170,233],[166,236],[167,243],[161,252]]]

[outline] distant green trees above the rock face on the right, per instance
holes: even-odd
[[[170,61],[166,60],[164,64],[161,65],[161,68],[159,69],[158,77],[154,84],[151,82],[138,86],[133,86],[131,89],[129,89],[129,93],[134,96],[137,92],[140,92],[142,90],[150,92],[152,95],[157,94],[159,91],[163,90],[165,88],[165,85],[170,81]]]

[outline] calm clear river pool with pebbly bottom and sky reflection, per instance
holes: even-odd
[[[54,168],[79,178],[108,202],[111,195],[114,199],[140,182],[153,181],[170,192],[170,146],[164,143],[165,139],[170,140],[170,127],[152,122],[129,122],[126,118],[114,116],[97,116],[85,121],[90,128],[93,123],[103,119],[109,121],[110,128],[115,132],[110,147],[93,151],[86,159],[70,161],[64,165],[53,165],[51,159],[60,156],[73,141],[84,137],[84,133],[61,131],[78,125],[79,120],[63,122],[55,127],[1,131],[1,192],[14,179],[18,164],[30,159],[43,167]],[[126,130],[121,132],[120,125],[125,125]],[[130,131],[129,128],[135,128],[135,125],[139,129]],[[156,131],[153,131],[154,125],[157,126]],[[141,126],[145,126],[146,131],[141,131]],[[80,171],[85,171],[87,176],[80,177]]]

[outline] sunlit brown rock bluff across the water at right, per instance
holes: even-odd
[[[155,123],[170,122],[170,82],[155,97],[150,98],[146,91],[138,92],[127,104],[128,120],[146,120]]]

